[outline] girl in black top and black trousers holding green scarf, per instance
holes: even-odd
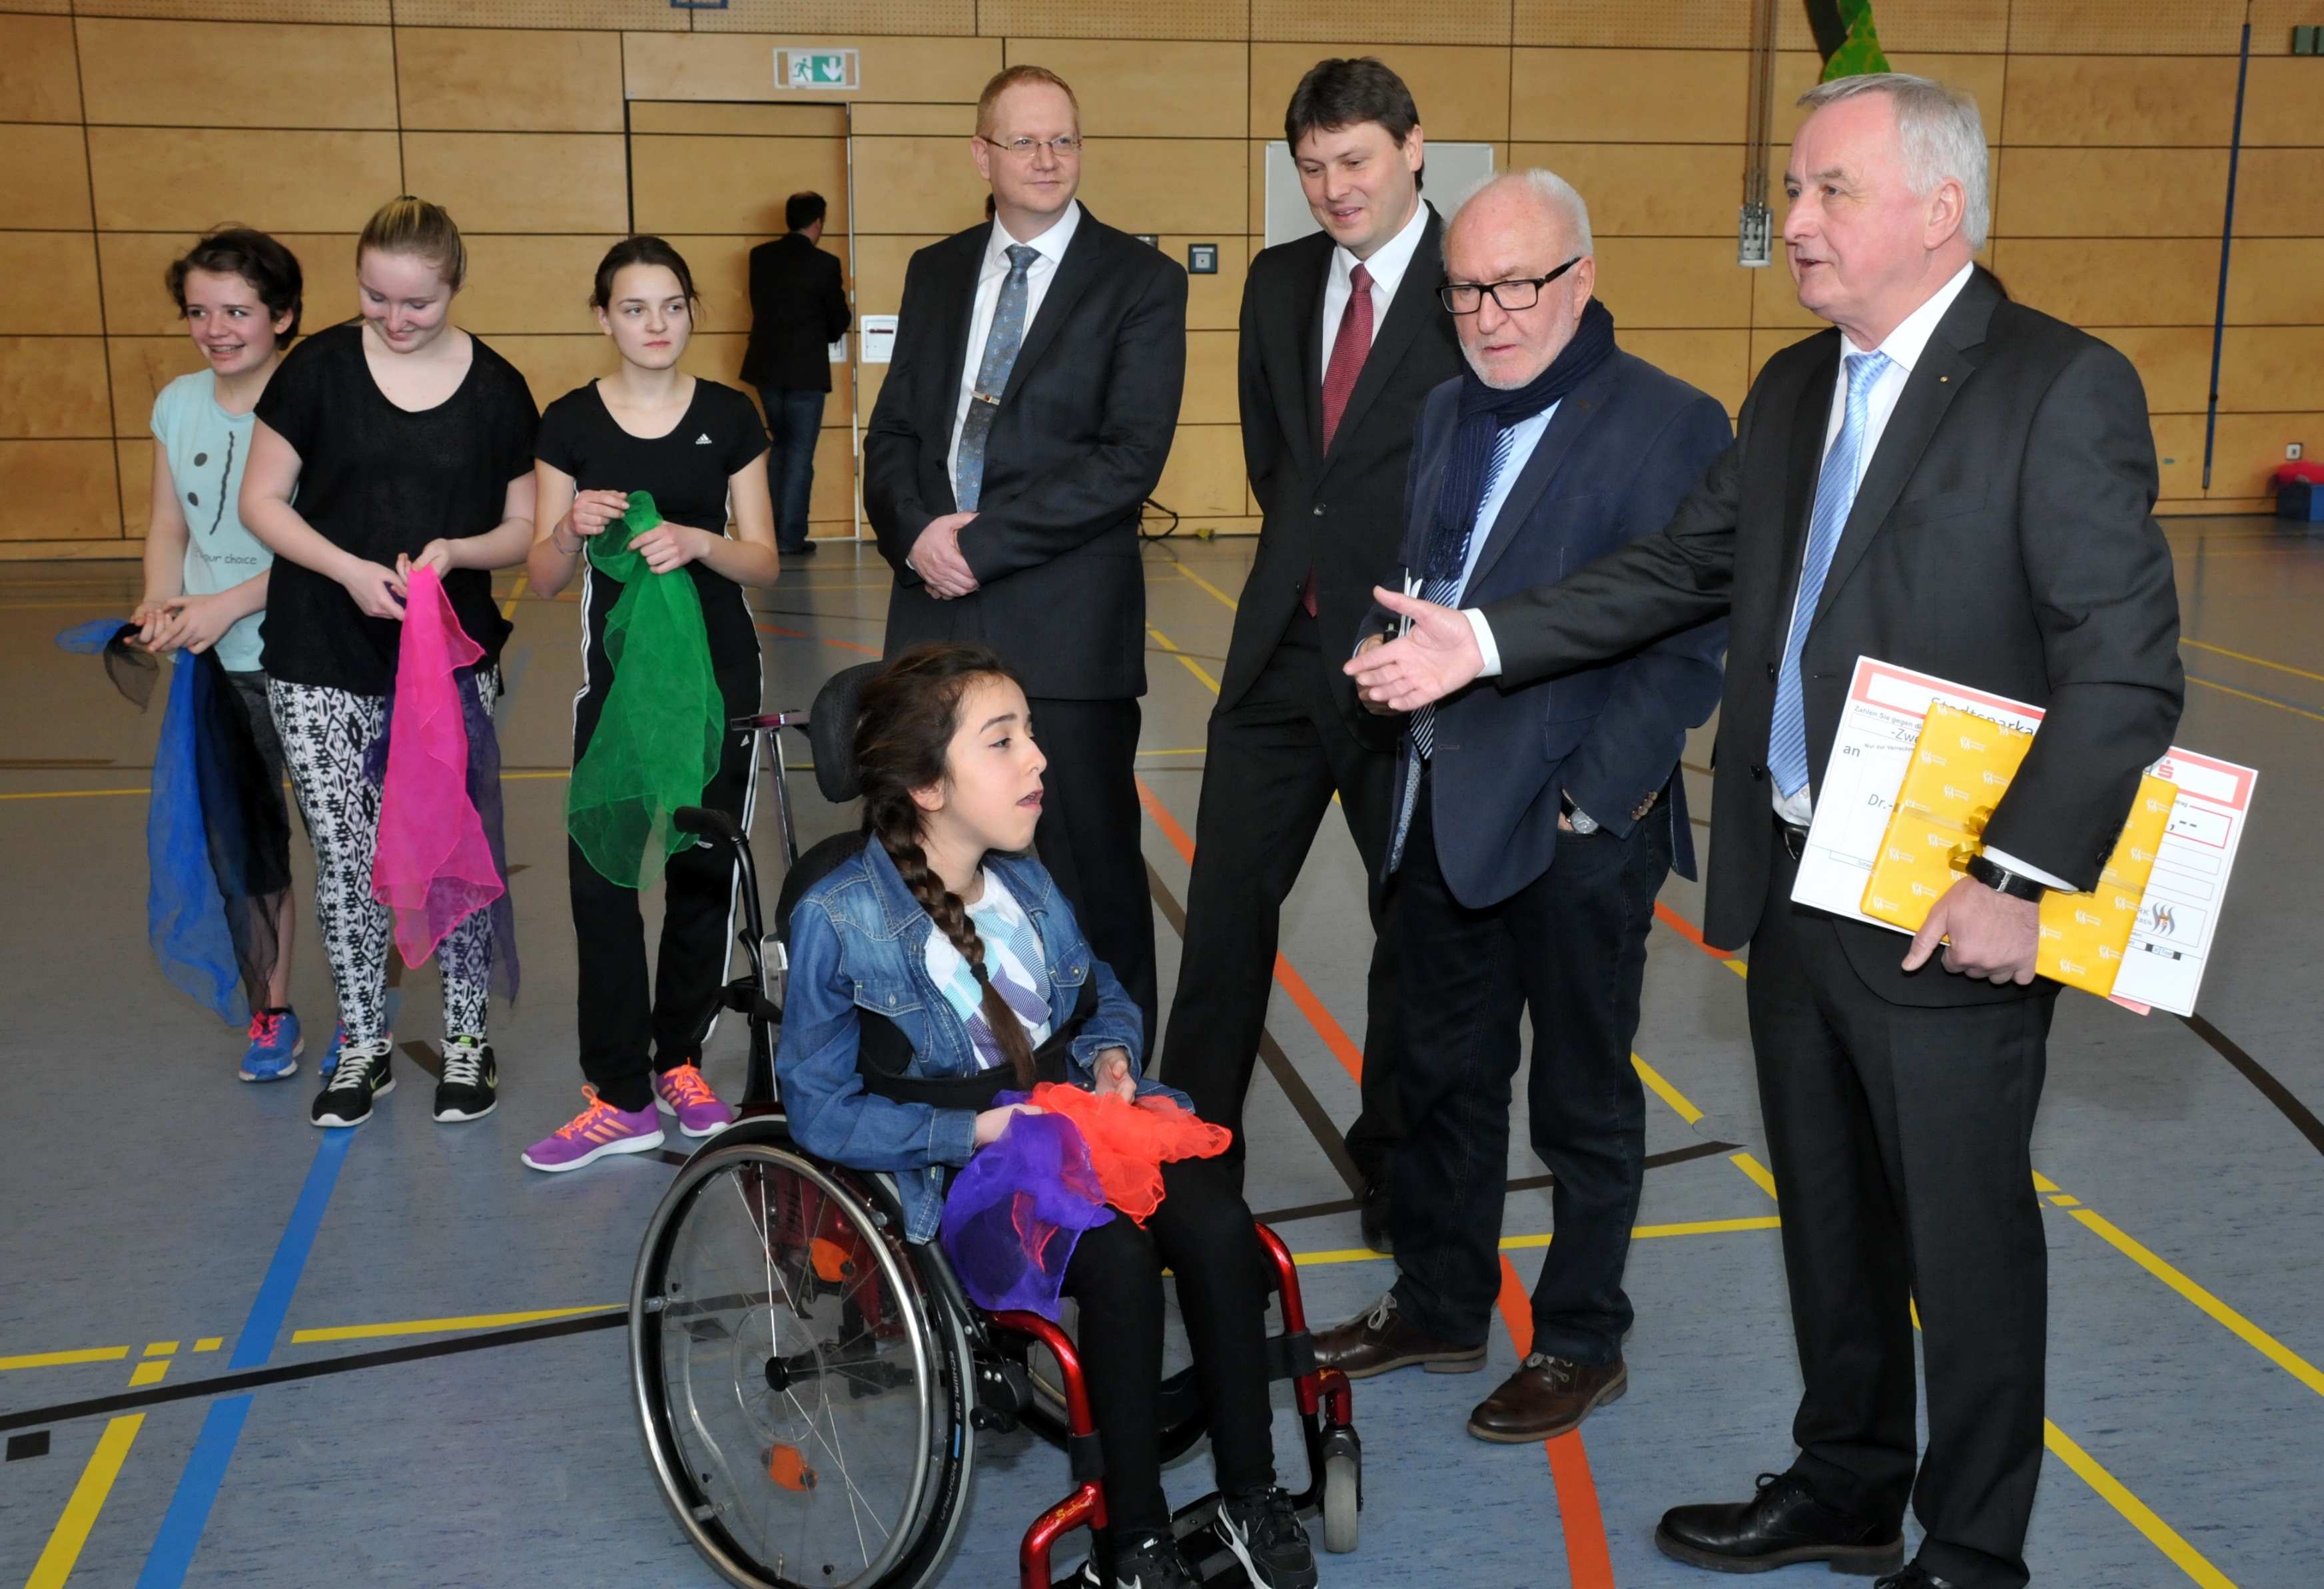
[[[758,711],[758,630],[744,585],[772,585],[774,504],[767,427],[732,386],[679,372],[695,328],[695,281],[660,237],[627,237],[597,265],[597,325],[621,348],[621,369],[565,393],[541,416],[539,539],[532,588],[555,595],[583,544],[618,525],[632,490],[651,492],[662,525],[630,541],[646,567],[683,567],[702,597],[702,625],[725,716]],[[732,509],[734,530],[727,532]],[[621,581],[595,565],[581,588],[583,685],[574,699],[574,762],[588,750],[614,685],[604,625]],[[751,822],[755,762],[748,734],[727,734],[702,804]],[[718,1008],[732,876],[716,850],[676,850],[665,867],[662,952],[646,987],[646,929],[637,878],[614,880],[567,841],[574,939],[581,959],[581,1073],[588,1106],[525,1150],[541,1171],[581,1169],[609,1152],[662,1145],[660,1113],[686,1136],[709,1136],[734,1110],[702,1080],[702,1038]],[[651,1062],[648,1062],[651,1041]]]

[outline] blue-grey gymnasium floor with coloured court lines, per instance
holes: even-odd
[[[2036,1136],[2052,1429],[2029,1559],[2040,1584],[2303,1589],[2324,1580],[2324,1127],[2308,1113],[2324,1108],[2324,966],[2303,927],[2324,897],[2310,815],[2324,551],[2268,520],[2168,530],[2194,681],[2180,743],[2259,767],[2259,799],[2203,1022],[2059,1001]],[[1250,546],[1148,551],[1141,776],[1164,990],[1204,718]],[[827,674],[876,653],[885,585],[874,555],[827,546],[755,599],[769,709],[804,706]],[[128,565],[0,565],[0,1066],[23,1108],[0,1150],[0,1587],[713,1584],[651,1484],[621,1331],[493,1336],[618,1303],[672,1175],[653,1157],[555,1178],[516,1159],[579,1103],[560,832],[579,609],[516,604],[507,650],[525,983],[514,1011],[493,1011],[502,1108],[437,1127],[428,1078],[400,1059],[407,1085],[370,1124],[323,1134],[307,1124],[311,1059],[293,1085],[237,1083],[242,1038],[174,994],[146,950],[142,792],[160,713],[139,716],[93,657],[51,643],[132,599]],[[1687,760],[1706,750],[1697,734]],[[811,778],[795,790],[802,841],[853,820]],[[1706,811],[1701,776],[1694,794]],[[332,999],[304,876],[295,1001],[318,1045]],[[1655,1552],[1657,1515],[1745,1496],[1792,1454],[1796,1368],[1741,966],[1690,939],[1692,885],[1673,878],[1664,904],[1638,1034],[1659,1101],[1629,1261],[1631,1392],[1545,1454],[1462,1431],[1515,1364],[1501,1329],[1483,1375],[1360,1385],[1364,1538],[1357,1554],[1322,1556],[1325,1584],[1699,1589],[1715,1580]],[[1306,1254],[1311,1315],[1334,1322],[1392,1275],[1360,1250],[1353,1213],[1313,1213],[1348,1185],[1308,1120],[1343,1127],[1357,1106],[1367,929],[1341,827],[1308,862],[1283,952],[1269,1029],[1299,1106],[1262,1066],[1250,1201],[1294,1210],[1278,1229]],[[439,1041],[432,980],[404,978],[400,1038]],[[732,1022],[709,1071],[739,1090]],[[1538,1173],[1520,1136],[1511,1175]],[[1532,1282],[1548,1220],[1545,1192],[1511,1192],[1511,1287]],[[397,1347],[414,1352],[244,1396],[46,1412]],[[1287,1419],[1278,1429],[1297,1482]],[[955,1584],[1013,1582],[1018,1533],[1064,1489],[1048,1447],[1016,1436],[981,1450]],[[1208,1489],[1199,1447],[1171,1487]],[[1794,1568],[1771,1582],[1829,1580]]]

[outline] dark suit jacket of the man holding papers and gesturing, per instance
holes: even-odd
[[[1504,683],[1734,613],[1703,920],[1720,948],[1745,943],[1766,904],[1776,669],[1838,355],[1841,335],[1827,330],[1769,360],[1741,437],[1662,534],[1485,606]],[[1810,788],[1822,788],[1857,657],[2013,695],[2047,718],[1985,841],[2096,885],[2185,695],[2154,492],[2154,434],[2131,362],[2008,302],[1980,269],[1906,381],[1824,578],[1801,653]],[[2033,992],[1950,976],[1938,959],[1906,976],[1899,934],[1864,922],[1838,932],[1857,976],[1896,1004]]]

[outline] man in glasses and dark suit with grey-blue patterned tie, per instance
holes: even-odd
[[[1139,509],[1178,427],[1185,269],[1074,200],[1081,107],[1055,72],[985,84],[969,151],[995,218],[911,256],[865,432],[885,648],[981,641],[1016,669],[1048,755],[1034,846],[1150,1041]]]

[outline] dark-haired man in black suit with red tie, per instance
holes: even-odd
[[[1394,576],[1413,423],[1459,372],[1459,341],[1436,304],[1443,221],[1420,197],[1420,112],[1404,81],[1371,58],[1320,60],[1283,135],[1322,230],[1262,251],[1243,283],[1243,462],[1264,525],[1211,713],[1162,1078],[1234,1127],[1241,1169],[1278,915],[1339,794],[1376,934],[1364,1113],[1341,1169],[1364,1241],[1385,1252],[1387,1159],[1404,1134],[1385,892],[1397,725],[1357,704],[1341,662],[1371,588]]]

